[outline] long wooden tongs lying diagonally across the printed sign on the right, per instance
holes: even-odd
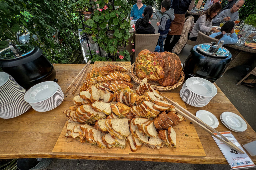
[[[198,119],[195,115],[193,115],[192,113],[190,113],[189,111],[187,111],[186,109],[184,109],[183,107],[181,107],[178,103],[172,101],[171,99],[163,96],[163,98],[169,102],[170,104],[172,104],[173,106],[175,106],[175,110],[177,113],[179,113],[181,116],[185,117],[186,119],[190,120],[192,123],[194,123],[195,125],[199,126],[200,128],[202,128],[203,130],[205,130],[206,132],[208,132],[210,135],[216,137],[217,139],[219,139],[220,141],[222,141],[223,143],[225,143],[226,145],[228,145],[229,147],[231,147],[232,149],[235,149],[237,152],[244,154],[244,152],[239,149],[234,143],[232,143],[230,140],[228,140],[225,136],[223,136],[222,134],[220,134],[220,132],[218,132],[217,130],[215,130],[214,128],[206,125],[203,121],[201,121],[200,119]],[[210,130],[214,131],[215,133],[217,133],[218,135],[220,135],[223,139],[221,139],[220,137],[218,137],[217,135],[215,135],[213,132],[211,132]]]

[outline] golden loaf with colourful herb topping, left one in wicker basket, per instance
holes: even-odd
[[[141,80],[159,80],[164,78],[164,61],[159,52],[150,52],[147,49],[140,51],[135,62],[135,69],[138,78]]]

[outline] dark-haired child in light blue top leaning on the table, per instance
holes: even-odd
[[[223,44],[235,44],[238,42],[236,33],[234,32],[235,23],[232,21],[226,22],[220,29],[219,33],[213,33],[209,37],[224,40]]]

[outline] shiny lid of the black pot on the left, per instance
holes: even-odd
[[[0,59],[11,60],[11,59],[20,58],[30,54],[35,49],[34,46],[27,45],[27,44],[16,45],[16,47],[19,49],[19,56],[17,56],[17,54],[15,55],[15,53],[11,50],[10,47],[7,47],[0,51]]]

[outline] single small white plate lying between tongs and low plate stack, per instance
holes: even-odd
[[[201,119],[205,124],[212,128],[217,128],[219,126],[219,121],[211,112],[206,110],[199,110],[196,112],[196,117]]]

